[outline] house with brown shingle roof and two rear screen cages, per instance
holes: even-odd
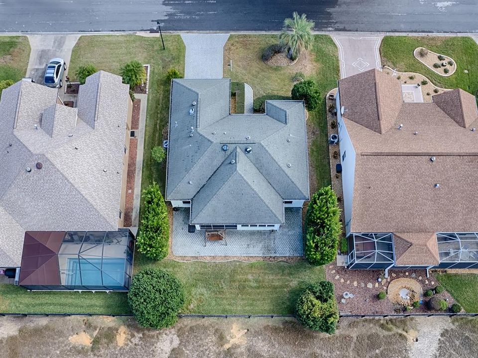
[[[478,267],[478,111],[454,89],[405,103],[378,70],[339,81],[349,267]]]

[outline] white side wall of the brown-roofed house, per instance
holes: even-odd
[[[344,191],[344,214],[347,235],[350,234],[352,220],[352,201],[354,197],[355,159],[356,153],[349,133],[341,116],[340,93],[337,96],[337,123],[339,125],[340,160],[342,163],[342,188]],[[345,108],[347,110],[347,108]],[[346,153],[345,160],[342,161]]]

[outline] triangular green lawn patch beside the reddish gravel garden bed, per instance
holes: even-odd
[[[465,311],[478,313],[478,274],[435,273],[435,277]]]

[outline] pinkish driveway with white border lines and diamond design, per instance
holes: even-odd
[[[373,68],[382,68],[380,42],[383,36],[332,36],[339,48],[340,77],[345,78]]]

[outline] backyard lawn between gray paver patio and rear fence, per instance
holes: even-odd
[[[293,314],[294,304],[310,283],[325,279],[322,267],[305,260],[287,263],[154,262],[135,257],[136,269],[156,267],[178,277],[186,288],[182,313]]]

